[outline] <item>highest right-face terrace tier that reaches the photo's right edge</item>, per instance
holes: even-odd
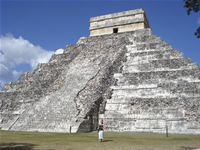
[[[190,76],[190,78],[188,78]],[[200,69],[188,69],[188,70],[174,70],[174,71],[154,71],[154,72],[138,72],[138,73],[124,73],[114,74],[117,79],[117,85],[138,85],[138,84],[158,84],[162,80],[163,82],[173,80],[183,81],[199,81]],[[162,79],[162,80],[161,80]]]

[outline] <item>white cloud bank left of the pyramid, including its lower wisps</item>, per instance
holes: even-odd
[[[52,54],[61,54],[63,49],[48,51],[35,46],[22,37],[6,34],[0,38],[0,90],[6,81],[16,81],[23,71],[23,64],[33,71],[38,63],[47,63]],[[20,71],[17,71],[20,68]]]

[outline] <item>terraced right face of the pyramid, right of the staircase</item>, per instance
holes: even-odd
[[[151,34],[141,36],[127,46],[122,72],[114,74],[112,98],[99,115],[106,130],[164,133],[167,125],[170,133],[200,134],[198,65],[168,43],[152,42]]]

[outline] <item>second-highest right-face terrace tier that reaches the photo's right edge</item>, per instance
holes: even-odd
[[[136,97],[136,96],[169,96],[169,95],[188,95],[194,96],[200,94],[200,82],[190,82],[187,84],[158,84],[157,86],[135,86],[131,88],[115,88],[113,96],[125,96],[125,97]]]

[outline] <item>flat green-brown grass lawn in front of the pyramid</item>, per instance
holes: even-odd
[[[0,131],[0,150],[191,150],[200,149],[200,135],[105,132],[41,133]]]

